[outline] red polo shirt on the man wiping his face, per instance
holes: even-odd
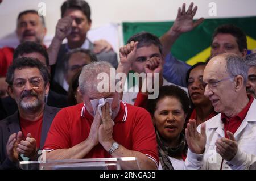
[[[55,116],[43,150],[71,148],[89,136],[93,117],[83,103],[63,108]],[[158,165],[155,130],[150,113],[143,108],[120,102],[120,111],[114,119],[113,139],[126,149],[139,151]],[[96,145],[85,158],[109,158],[101,144]]]

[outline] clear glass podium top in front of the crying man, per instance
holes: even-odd
[[[139,170],[136,157],[22,161],[23,170]]]

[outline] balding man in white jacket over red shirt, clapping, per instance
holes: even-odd
[[[246,94],[247,73],[245,60],[234,53],[208,62],[204,94],[220,113],[197,129],[189,120],[187,169],[256,169],[256,100]]]

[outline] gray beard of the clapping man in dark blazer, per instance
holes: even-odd
[[[32,100],[23,100],[23,98],[26,98],[27,96],[34,97],[36,99]],[[21,99],[19,99],[19,105],[24,111],[36,111],[39,107],[42,106],[44,103],[44,94],[38,95],[36,92],[32,91],[24,91],[21,95]]]

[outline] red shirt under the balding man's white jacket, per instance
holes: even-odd
[[[230,131],[234,134],[240,127],[242,121],[247,115],[247,112],[249,111],[251,103],[253,103],[253,97],[249,96],[249,103],[245,106],[245,108],[243,108],[240,113],[238,113],[238,115],[234,117],[228,117],[224,113],[221,113],[221,120],[224,123],[225,138],[229,138],[226,134],[226,131]]]

